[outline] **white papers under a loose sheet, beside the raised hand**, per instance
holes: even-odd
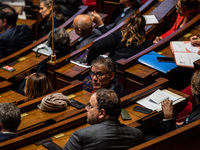
[[[162,92],[165,93],[165,95],[167,95],[169,97],[169,100],[172,100],[173,101],[173,105],[176,104],[176,103],[179,103],[183,100],[185,100],[184,97],[178,95],[178,94],[175,94],[167,89],[164,89],[162,90]],[[155,103],[153,102],[152,100],[150,100],[149,96],[147,97],[144,97],[140,100],[137,101],[138,104],[146,107],[146,108],[149,108],[151,110],[156,110],[156,111],[161,111],[162,108],[161,108],[161,103]]]

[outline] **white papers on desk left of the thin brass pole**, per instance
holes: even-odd
[[[51,47],[47,46],[47,42],[41,43],[40,45],[34,47],[32,50],[36,53],[40,53],[46,56],[50,56],[52,54]]]

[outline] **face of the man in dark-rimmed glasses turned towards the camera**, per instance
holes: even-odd
[[[94,89],[108,88],[114,73],[107,72],[105,66],[92,66],[91,78]]]

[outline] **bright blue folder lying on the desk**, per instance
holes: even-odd
[[[177,67],[175,62],[158,62],[157,57],[165,57],[154,51],[151,51],[138,59],[138,62],[156,69],[162,73],[167,73]]]

